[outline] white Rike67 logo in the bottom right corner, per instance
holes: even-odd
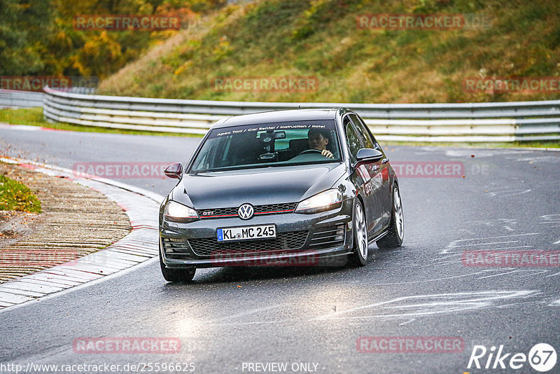
[[[521,369],[522,373],[528,373],[528,367],[531,366],[534,370],[545,373],[552,370],[556,365],[556,350],[552,345],[547,343],[539,343],[534,345],[528,355],[524,353],[506,353],[504,352],[503,345],[498,347],[492,346],[486,349],[484,345],[475,345],[472,347],[470,359],[468,360],[467,368],[473,369],[505,369],[511,368],[514,370]]]

